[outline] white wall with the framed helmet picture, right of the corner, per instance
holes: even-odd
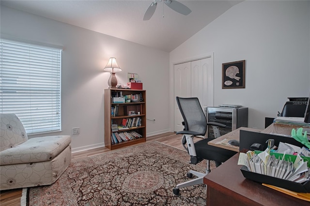
[[[241,2],[173,50],[170,70],[212,52],[215,106],[246,106],[248,126],[263,129],[264,118],[276,117],[287,97],[309,96],[310,1]],[[222,63],[243,59],[246,88],[222,89]]]

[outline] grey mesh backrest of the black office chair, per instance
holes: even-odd
[[[176,97],[180,112],[184,119],[186,131],[197,132],[195,135],[205,135],[207,120],[197,97]]]

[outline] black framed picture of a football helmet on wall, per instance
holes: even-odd
[[[222,88],[246,88],[246,60],[222,64]]]

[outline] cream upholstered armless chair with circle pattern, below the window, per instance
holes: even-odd
[[[28,139],[15,114],[0,114],[0,190],[52,184],[70,162],[69,135]]]

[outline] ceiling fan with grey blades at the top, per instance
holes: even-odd
[[[182,15],[189,15],[192,11],[183,3],[180,3],[176,0],[154,0],[154,2],[151,3],[149,8],[146,10],[143,21],[149,20],[156,10],[156,6],[158,2],[163,1],[167,6],[169,6],[172,10],[182,14]]]

